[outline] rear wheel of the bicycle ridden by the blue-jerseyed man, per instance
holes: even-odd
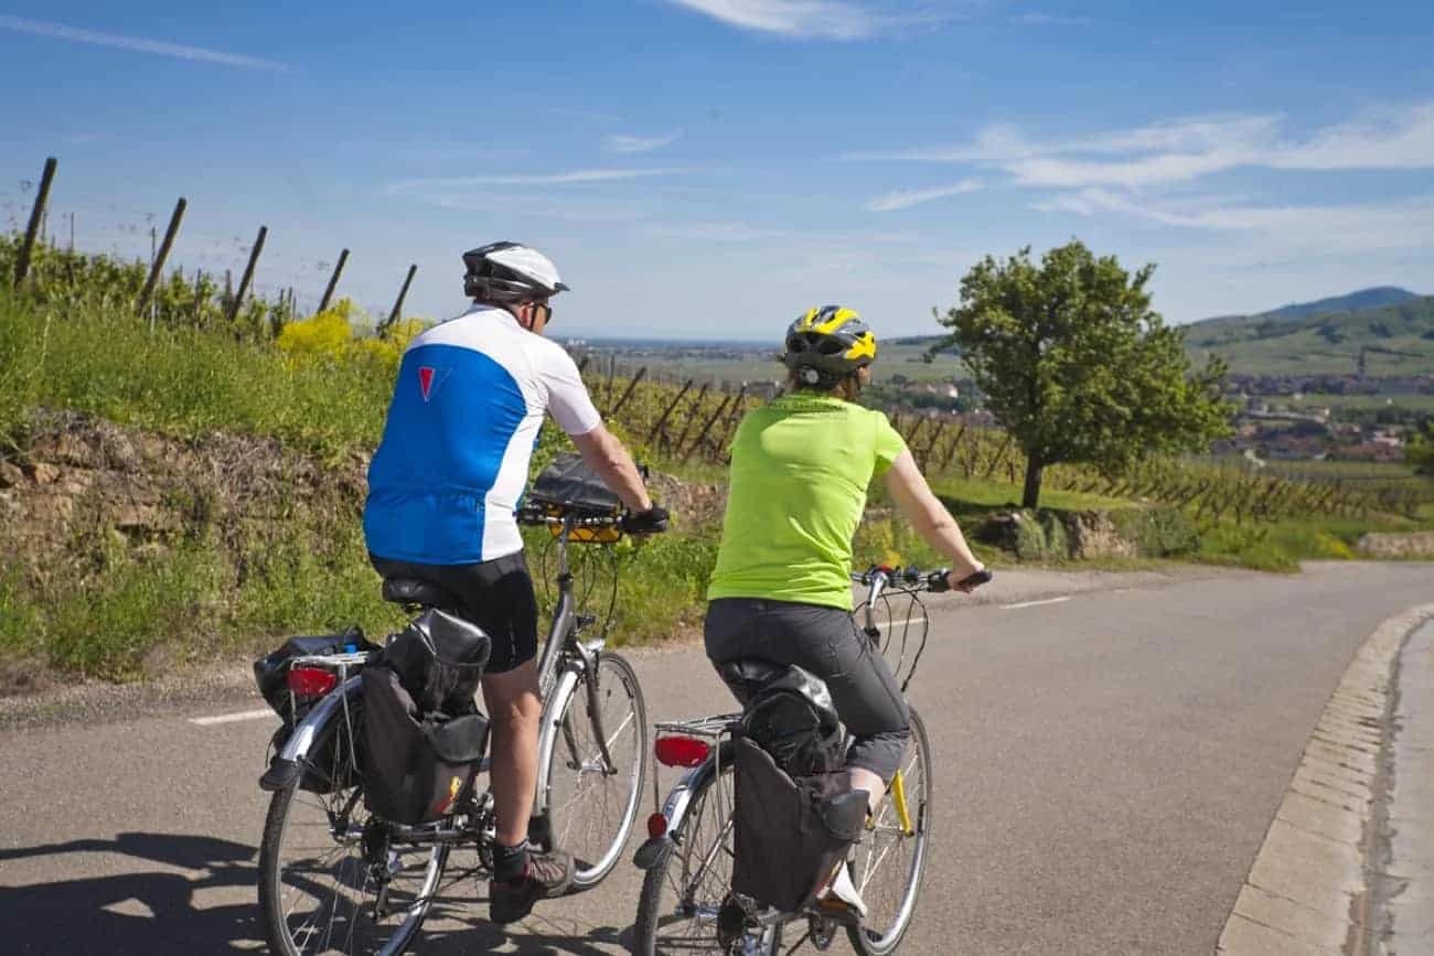
[[[301,780],[270,801],[260,910],[272,953],[402,953],[439,889],[447,846],[397,843],[363,806],[354,767],[361,720],[361,704],[340,708],[315,735],[310,754],[323,765],[310,764],[308,777],[330,793]]]

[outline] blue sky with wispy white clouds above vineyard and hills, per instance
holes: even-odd
[[[1133,9],[1133,7],[1140,9]],[[935,331],[985,254],[1159,264],[1172,321],[1434,292],[1434,4],[1063,0],[0,6],[0,216],[386,311],[515,238],[554,333]]]

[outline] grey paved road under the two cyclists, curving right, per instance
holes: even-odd
[[[1352,652],[1431,593],[1430,565],[1321,565],[1015,609],[944,599],[912,688],[941,718],[939,830],[903,952],[1210,953]],[[695,649],[637,664],[652,718],[727,707]],[[0,947],[260,949],[271,725],[185,720],[252,705],[0,734]],[[419,952],[622,952],[637,886],[624,866],[512,936],[479,907]]]

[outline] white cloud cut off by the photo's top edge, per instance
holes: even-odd
[[[939,23],[929,10],[875,10],[847,0],[667,0],[714,20],[793,39],[865,40],[901,27]]]

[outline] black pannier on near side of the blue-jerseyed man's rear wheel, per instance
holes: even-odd
[[[429,609],[363,672],[369,808],[404,826],[433,823],[473,790],[488,747],[478,692],[492,642],[476,625]]]

